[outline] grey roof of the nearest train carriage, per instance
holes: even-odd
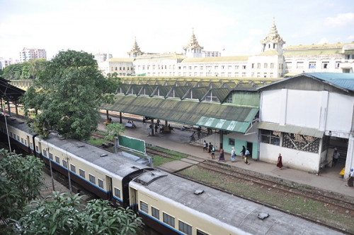
[[[131,183],[140,191],[156,193],[161,200],[173,200],[179,208],[185,206],[206,218],[212,217],[210,222],[217,219],[250,234],[341,234],[164,171],[145,172]],[[259,219],[260,214],[269,217]]]

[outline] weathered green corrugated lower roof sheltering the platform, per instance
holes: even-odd
[[[236,131],[245,133],[251,121],[258,113],[258,108],[237,107],[233,105],[210,104],[205,102],[193,102],[189,100],[169,100],[162,98],[136,97],[115,95],[113,104],[103,104],[101,109],[140,116],[149,116],[155,119],[164,119],[186,123],[188,125],[198,125],[225,131]],[[212,125],[207,126],[205,119],[219,119],[212,121]],[[225,121],[224,121],[225,120]],[[233,121],[233,122],[232,122]],[[202,122],[202,124],[197,124]],[[222,124],[221,123],[229,123]],[[231,128],[231,123],[233,128]]]

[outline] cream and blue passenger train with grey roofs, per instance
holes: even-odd
[[[6,122],[7,121],[7,128]],[[0,116],[1,138],[67,175],[113,205],[130,207],[161,234],[341,234],[265,205],[149,167],[127,152],[30,131],[23,119]]]

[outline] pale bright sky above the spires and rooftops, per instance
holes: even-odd
[[[353,0],[0,0],[0,57],[24,48],[182,53],[192,31],[222,56],[261,52],[275,19],[284,47],[354,41]]]

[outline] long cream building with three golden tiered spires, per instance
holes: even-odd
[[[203,51],[194,31],[183,54],[173,54],[178,57],[176,63],[171,64],[171,53],[144,54],[137,40],[128,54],[133,59],[133,74],[145,76],[282,78],[312,72],[353,73],[354,43],[283,48],[284,44],[273,20],[268,35],[261,40],[261,53],[253,56],[220,56],[219,52]]]

